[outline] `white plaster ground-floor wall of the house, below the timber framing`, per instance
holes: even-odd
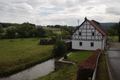
[[[79,42],[82,42],[82,46],[79,45]],[[94,46],[91,47],[91,42],[94,43]],[[78,50],[96,50],[101,49],[101,42],[97,41],[77,41],[72,40],[72,49],[78,49]]]

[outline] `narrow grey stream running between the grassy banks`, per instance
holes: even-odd
[[[43,63],[37,64],[27,70],[21,71],[9,77],[0,78],[0,80],[33,80],[38,77],[47,75],[54,71],[55,59],[50,59]]]

